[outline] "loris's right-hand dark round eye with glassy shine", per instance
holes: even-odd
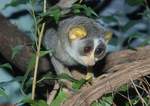
[[[99,44],[97,48],[95,49],[95,53],[94,53],[95,57],[99,58],[101,55],[104,55],[105,49],[106,47],[104,44]]]

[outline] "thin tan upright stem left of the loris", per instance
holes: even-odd
[[[46,0],[44,0],[43,12],[46,12]],[[45,29],[45,23],[42,24],[42,28],[39,33],[38,46],[37,46],[37,51],[36,51],[35,68],[34,68],[34,76],[33,76],[33,83],[32,83],[32,100],[34,100],[34,98],[35,98],[37,71],[38,71],[38,65],[39,65],[39,59],[40,59],[40,49],[41,49],[41,43],[42,43],[44,29]]]

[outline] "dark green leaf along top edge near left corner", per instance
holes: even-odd
[[[26,4],[28,2],[29,2],[29,0],[11,0],[11,2],[6,4],[4,8],[6,8],[8,6],[16,7],[20,4]]]

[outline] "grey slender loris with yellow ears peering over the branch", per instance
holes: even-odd
[[[49,29],[44,45],[54,50],[50,57],[56,73],[68,74],[67,66],[90,67],[101,60],[106,54],[108,35],[95,20],[75,16],[61,21],[57,30]]]

